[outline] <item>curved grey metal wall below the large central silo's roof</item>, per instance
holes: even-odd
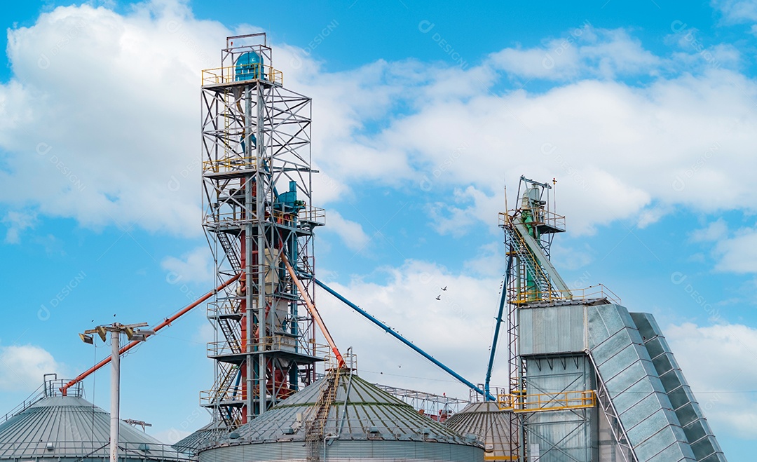
[[[200,453],[200,462],[304,462],[306,446],[298,441],[220,446]],[[334,440],[326,445],[326,460],[357,462],[483,462],[484,450],[475,446],[440,442],[386,442]]]

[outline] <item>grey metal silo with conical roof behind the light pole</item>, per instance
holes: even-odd
[[[51,379],[0,423],[0,460],[107,461],[111,414],[82,397],[81,384]],[[120,422],[120,462],[185,462],[186,454]]]

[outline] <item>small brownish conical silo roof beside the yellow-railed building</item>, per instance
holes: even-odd
[[[494,401],[468,404],[444,423],[461,435],[476,435],[486,460],[515,460],[510,451],[510,416]]]

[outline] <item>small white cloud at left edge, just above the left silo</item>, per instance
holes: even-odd
[[[32,391],[42,385],[46,373],[61,373],[62,365],[36,345],[0,347],[0,389]]]

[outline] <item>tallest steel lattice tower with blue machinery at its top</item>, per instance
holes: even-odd
[[[201,403],[226,427],[313,382],[323,357],[284,261],[314,274],[324,223],[311,200],[311,100],[284,88],[271,55],[264,33],[229,37],[222,67],[202,76],[203,226],[217,279],[238,279],[207,306],[216,367]]]

